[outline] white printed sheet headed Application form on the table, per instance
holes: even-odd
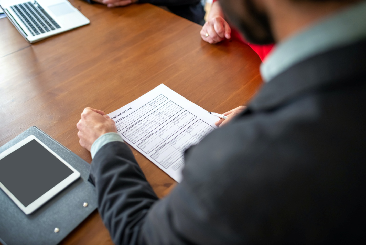
[[[108,116],[126,143],[177,182],[184,150],[213,131],[218,120],[164,84]]]

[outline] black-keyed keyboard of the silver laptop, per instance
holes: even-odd
[[[33,36],[61,28],[37,1],[16,4],[10,8]]]

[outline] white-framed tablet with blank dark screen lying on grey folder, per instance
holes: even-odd
[[[0,153],[0,188],[30,214],[80,177],[36,136]]]

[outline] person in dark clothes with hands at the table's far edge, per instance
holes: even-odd
[[[203,25],[205,10],[201,0],[85,0],[88,3],[101,3],[109,8],[124,7],[135,3],[151,3],[156,6],[165,6],[173,14],[186,18],[190,21]]]

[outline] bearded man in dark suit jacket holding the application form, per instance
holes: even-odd
[[[277,45],[261,66],[264,87],[186,151],[183,180],[169,195],[158,200],[113,120],[90,108],[81,115],[80,144],[91,150],[90,177],[113,242],[363,240],[366,1],[221,6],[247,40]]]

